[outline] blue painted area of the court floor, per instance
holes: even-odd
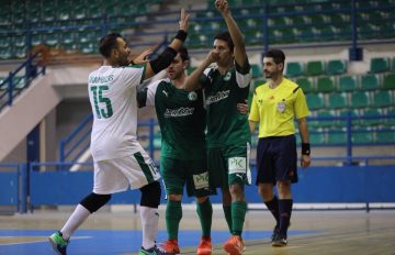
[[[53,230],[0,230],[0,255],[25,255],[54,254],[47,236]],[[312,234],[314,231],[289,231],[289,235]],[[181,247],[198,246],[200,241],[200,231],[180,231],[179,245]],[[245,231],[242,237],[248,240],[268,240],[271,231]],[[227,231],[212,231],[213,244],[222,244],[229,237]],[[167,239],[166,231],[159,231],[158,241],[163,242]],[[109,230],[78,230],[71,239],[68,246],[68,254],[88,255],[88,254],[136,254],[142,244],[140,231],[109,231]]]

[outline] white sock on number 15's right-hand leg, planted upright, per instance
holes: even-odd
[[[151,248],[155,246],[156,235],[158,233],[158,209],[140,207],[140,220],[143,229],[143,247]]]

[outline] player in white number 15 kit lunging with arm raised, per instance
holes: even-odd
[[[70,235],[88,217],[103,207],[114,192],[139,189],[143,244],[139,254],[162,254],[155,240],[160,203],[159,173],[137,141],[137,86],[167,68],[187,38],[189,14],[181,10],[180,30],[154,60],[128,66],[131,48],[116,33],[100,40],[104,64],[88,79],[93,111],[91,152],[94,162],[93,191],[77,206],[60,231],[49,236],[57,254],[65,255]]]

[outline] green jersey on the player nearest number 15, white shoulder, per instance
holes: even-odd
[[[150,84],[138,92],[138,104],[155,106],[161,132],[162,157],[205,157],[203,92],[176,88],[169,79]]]

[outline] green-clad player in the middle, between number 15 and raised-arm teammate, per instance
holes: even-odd
[[[168,241],[161,248],[168,254],[180,253],[178,232],[182,218],[181,198],[187,185],[188,196],[196,198],[202,226],[198,254],[210,255],[213,208],[208,196],[215,190],[208,186],[203,92],[183,89],[189,59],[187,48],[182,47],[167,68],[168,78],[149,84],[138,92],[137,99],[139,107],[155,106],[161,132],[160,173],[168,196]]]

